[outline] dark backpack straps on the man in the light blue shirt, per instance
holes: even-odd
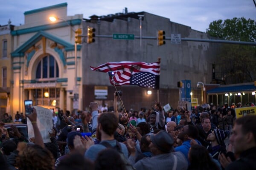
[[[136,170],[132,164],[130,164],[130,162],[125,158],[124,154],[122,153],[122,150],[121,150],[121,145],[119,144],[118,141],[116,141],[116,146],[113,147],[110,143],[108,143],[107,141],[103,141],[103,142],[100,142],[99,144],[102,144],[103,146],[107,147],[107,148],[113,148],[113,149],[116,149],[122,159],[122,161],[124,162],[125,166],[126,166],[126,170]]]

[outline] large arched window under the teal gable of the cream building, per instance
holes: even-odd
[[[59,77],[58,64],[53,56],[42,58],[36,68],[36,79],[55,80]]]

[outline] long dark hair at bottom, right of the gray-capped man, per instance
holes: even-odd
[[[212,161],[206,147],[193,145],[189,150],[189,170],[218,170],[218,166]]]

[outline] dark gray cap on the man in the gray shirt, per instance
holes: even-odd
[[[165,130],[160,130],[156,135],[151,135],[150,140],[164,153],[169,153],[173,149],[174,139]]]

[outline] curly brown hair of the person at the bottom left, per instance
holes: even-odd
[[[54,170],[55,159],[49,150],[33,144],[26,146],[16,163],[19,170]]]

